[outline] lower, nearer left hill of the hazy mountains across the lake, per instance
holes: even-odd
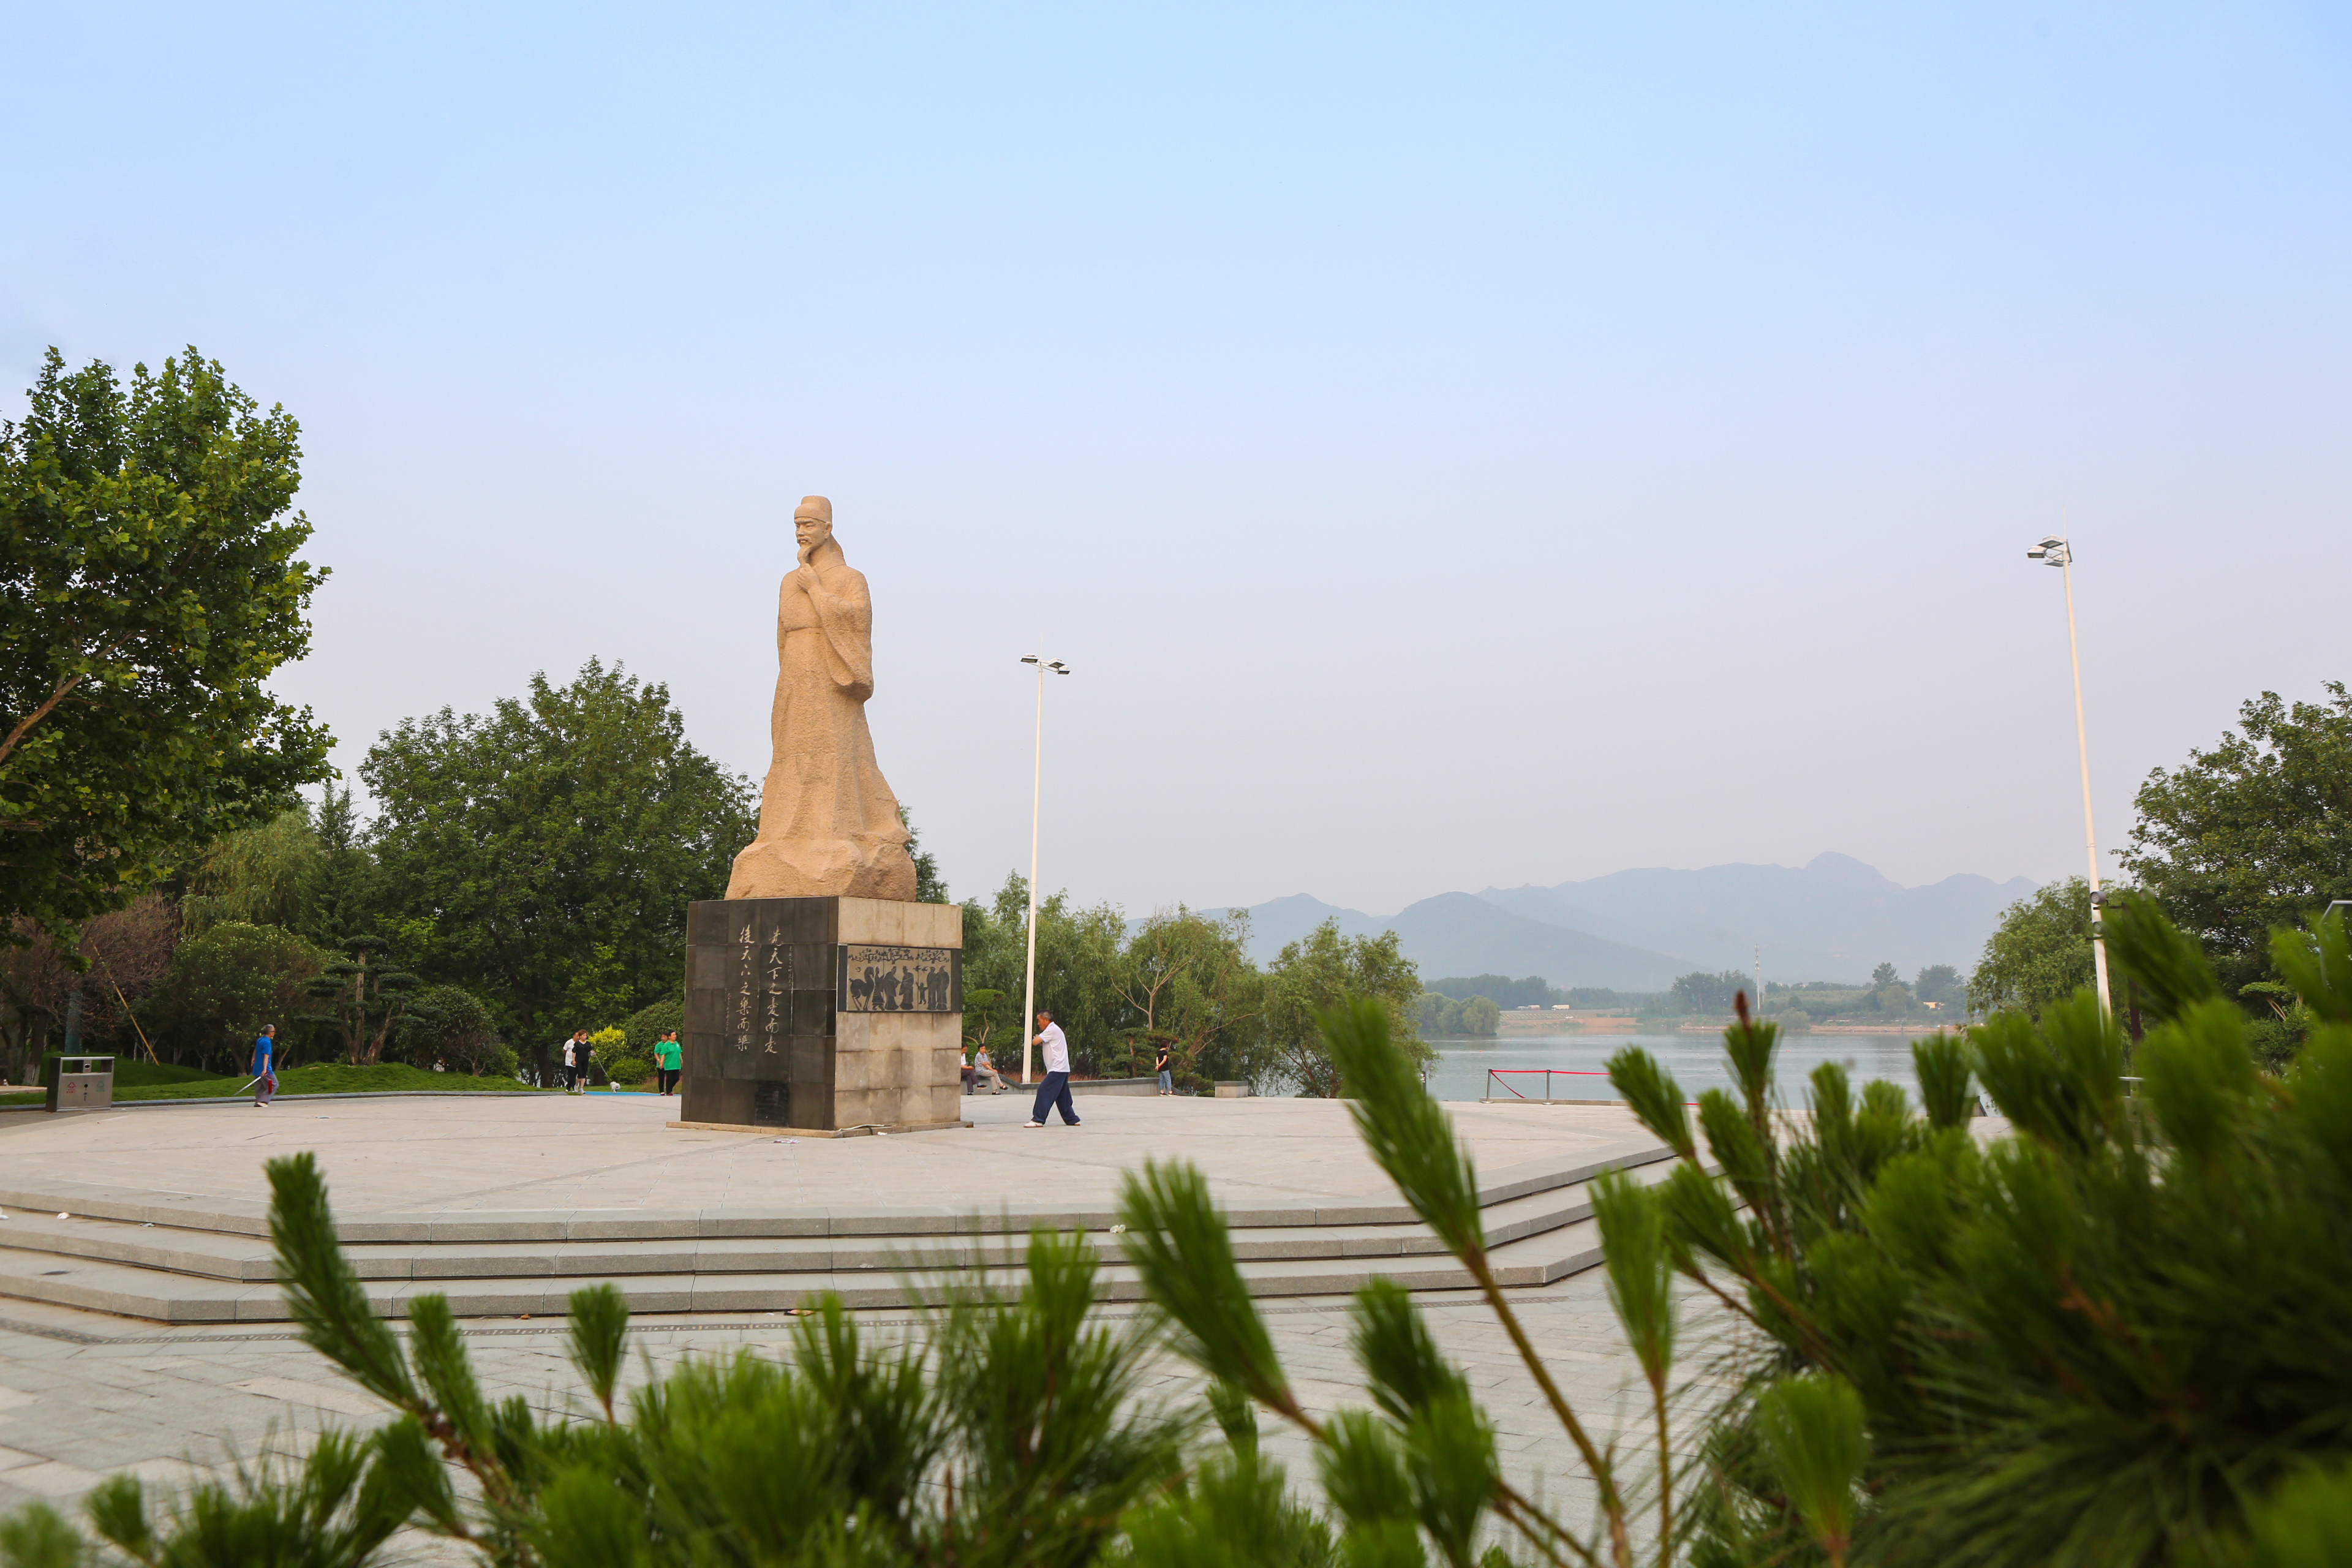
[[[1395,931],[1397,947],[1425,980],[1510,973],[1543,976],[1559,987],[1665,990],[1675,976],[1696,969],[1689,959],[1564,931],[1470,893],[1439,893],[1388,917],[1341,910],[1305,893],[1275,898],[1249,910],[1249,952],[1265,964],[1324,919],[1336,919],[1341,936]]]

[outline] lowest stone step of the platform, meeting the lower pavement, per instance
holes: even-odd
[[[1115,1239],[1103,1239],[1115,1241]],[[1115,1262],[1096,1281],[1101,1300],[1138,1300],[1136,1269]],[[1599,1262],[1599,1227],[1576,1220],[1489,1251],[1505,1286],[1543,1286]],[[1251,1295],[1345,1295],[1376,1276],[1409,1291],[1463,1288],[1470,1274],[1444,1253],[1390,1258],[1256,1258],[1242,1262]],[[407,1316],[419,1295],[442,1293],[459,1316],[562,1316],[581,1276],[492,1279],[369,1279],[369,1302],[383,1316]],[[950,1291],[1018,1286],[1014,1269],[908,1267],[903,1272],[727,1272],[616,1274],[633,1312],[783,1312],[840,1295],[847,1307],[913,1307]],[[162,1324],[280,1324],[285,1295],[275,1284],[207,1279],[94,1258],[0,1248],[0,1295],[85,1307]]]

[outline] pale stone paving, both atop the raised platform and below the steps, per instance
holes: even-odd
[[[673,1103],[675,1105],[675,1103]],[[1080,1100],[1084,1128],[1028,1131],[1025,1095],[967,1098],[978,1128],[891,1140],[800,1140],[779,1145],[731,1133],[661,1128],[670,1107],[644,1098],[499,1100],[285,1100],[278,1110],[158,1110],[40,1119],[0,1131],[0,1185],[64,1178],[146,1192],[186,1192],[209,1206],[254,1201],[261,1161],[318,1147],[339,1213],[419,1211],[506,1213],[513,1208],[710,1208],[729,1204],[936,1204],[993,1208],[1000,1194],[1108,1201],[1117,1173],[1145,1154],[1181,1154],[1211,1173],[1228,1206],[1251,1194],[1296,1201],[1390,1199],[1385,1178],[1362,1154],[1345,1110],[1296,1100]],[[1479,1168],[1602,1152],[1630,1135],[1609,1110],[1456,1105],[1456,1126]],[[1597,1434],[1628,1453],[1649,1453],[1646,1392],[1606,1305],[1602,1269],[1510,1293],[1538,1354]],[[1571,1514],[1590,1507],[1576,1453],[1559,1432],[1508,1338],[1477,1298],[1432,1291],[1418,1298],[1430,1324],[1470,1375],[1496,1420],[1512,1479]],[[1103,1307],[1108,1319],[1131,1307]],[[1348,1354],[1343,1298],[1261,1302],[1275,1345],[1303,1401],[1329,1413],[1364,1403]],[[1684,1300],[1684,1368],[1705,1366],[1731,1342],[1712,1300]],[[901,1333],[903,1309],[856,1314],[873,1335]],[[555,1321],[466,1324],[485,1392],[522,1394],[546,1410],[576,1408],[574,1378]],[[684,1356],[736,1347],[781,1352],[781,1314],[640,1316],[633,1380]],[[1167,1361],[1155,1396],[1185,1396],[1197,1375]],[[1686,1401],[1691,1420],[1703,1408]],[[99,1479],[132,1469],[153,1483],[301,1450],[327,1425],[372,1425],[369,1396],[303,1347],[292,1331],[165,1328],[158,1324],[0,1300],[0,1507],[31,1497],[73,1505]],[[1270,1450],[1294,1481],[1312,1474],[1305,1446],[1265,1418]],[[1679,1443],[1679,1439],[1677,1439]],[[449,1559],[440,1542],[414,1542],[421,1561]]]

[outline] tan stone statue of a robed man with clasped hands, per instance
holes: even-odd
[[[898,797],[866,731],[875,691],[873,599],[833,541],[833,503],[793,512],[800,567],[776,599],[776,757],[760,837],[736,856],[729,898],[915,898]]]

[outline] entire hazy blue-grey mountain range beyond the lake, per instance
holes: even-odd
[[[1338,919],[1343,936],[1395,931],[1423,978],[1543,976],[1552,985],[1665,990],[1691,969],[1755,964],[1766,980],[1865,980],[1889,961],[1905,978],[1926,964],[1966,973],[1992,926],[2034,891],[2025,877],[1945,877],[1900,886],[1851,856],[1806,865],[1637,870],[1559,886],[1439,893],[1395,914],[1362,914],[1308,893],[1249,905],[1251,954]]]

